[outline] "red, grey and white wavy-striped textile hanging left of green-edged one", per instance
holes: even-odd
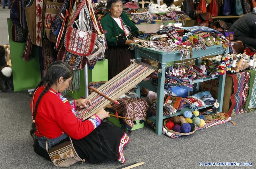
[[[243,113],[245,102],[247,99],[249,87],[248,80],[250,78],[248,72],[238,72],[236,74],[227,74],[233,79],[234,93],[230,97],[232,102],[228,111],[228,115],[236,115]]]

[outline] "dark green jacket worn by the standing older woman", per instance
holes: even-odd
[[[135,24],[129,19],[129,17],[122,12],[121,19],[124,25],[127,25],[131,28],[130,32],[133,37],[138,37],[139,29],[135,26]],[[102,29],[107,31],[106,39],[109,47],[124,47],[125,46],[125,33],[123,29],[121,29],[115,20],[110,16],[110,14],[106,14],[104,18],[100,21],[102,25]],[[123,36],[118,36],[123,35]]]

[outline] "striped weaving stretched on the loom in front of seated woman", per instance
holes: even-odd
[[[146,63],[134,61],[132,65],[127,67],[125,70],[117,74],[107,83],[98,88],[98,91],[111,99],[118,99],[123,93],[126,93],[144,78],[150,75],[156,70],[156,67],[148,65]],[[77,118],[83,120],[95,114],[101,108],[110,104],[110,100],[106,99],[102,95],[94,92],[89,95],[86,99],[91,100],[92,105],[88,105],[86,108],[76,110]]]

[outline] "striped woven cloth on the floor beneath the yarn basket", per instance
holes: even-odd
[[[212,127],[212,126],[216,126],[216,125],[219,125],[219,124],[223,124],[223,123],[226,123],[228,121],[231,120],[231,117],[228,117],[227,119],[219,119],[219,120],[216,120],[216,121],[213,121],[211,123],[205,123],[205,125],[203,127],[196,127],[196,130],[201,130],[201,129],[206,129],[208,127]],[[164,126],[163,126],[163,130],[162,130],[162,133],[163,134],[166,134],[167,136],[169,136],[170,138],[177,138],[177,137],[180,137],[182,135],[177,135],[177,134],[174,134],[174,133],[171,133],[169,131],[167,131]]]

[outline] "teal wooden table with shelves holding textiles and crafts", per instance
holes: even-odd
[[[158,72],[157,77],[157,86],[153,85],[150,80],[143,81],[138,84],[137,89],[137,95],[140,97],[140,87],[144,87],[146,89],[149,89],[151,91],[154,91],[157,93],[157,107],[156,107],[156,116],[148,117],[148,120],[152,121],[153,123],[156,123],[156,134],[160,135],[162,134],[162,124],[163,119],[172,117],[171,116],[163,116],[163,104],[164,104],[164,79],[165,79],[165,69],[166,65],[165,63],[173,62],[173,61],[179,61],[181,58],[181,54],[179,51],[174,52],[165,52],[162,50],[154,50],[151,48],[139,48],[138,46],[135,46],[135,58],[140,57],[146,57],[148,59],[152,59],[159,62],[159,66],[162,69],[161,72]],[[214,45],[210,47],[206,47],[206,50],[199,50],[195,51],[193,50],[193,57],[192,58],[199,58],[203,56],[210,56],[210,55],[217,55],[217,54],[223,54],[224,49],[222,45]],[[140,59],[139,59],[140,60]],[[184,59],[185,61],[185,59]],[[195,60],[195,64],[198,65],[201,63],[201,58]],[[204,78],[204,81],[216,79],[219,78],[219,90],[218,90],[218,102],[220,106],[218,107],[218,112],[222,112],[222,103],[223,103],[223,96],[224,96],[224,85],[225,85],[225,77],[226,74],[220,75],[219,77],[214,78]],[[195,93],[199,89],[199,85],[197,85],[198,82],[193,84],[193,93]],[[207,105],[212,106],[212,105]],[[200,107],[204,108],[204,107]],[[182,108],[181,111],[177,111],[174,115],[181,115],[184,111],[190,110],[189,108]]]

